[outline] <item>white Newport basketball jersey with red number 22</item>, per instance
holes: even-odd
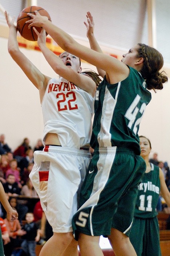
[[[41,103],[43,143],[48,132],[56,133],[62,147],[77,148],[90,142],[93,97],[60,77],[49,80]]]

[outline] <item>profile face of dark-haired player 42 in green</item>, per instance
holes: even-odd
[[[138,57],[138,51],[137,49],[139,48],[138,45],[135,45],[134,47],[132,47],[128,53],[125,53],[122,55],[122,59],[121,62],[123,62],[124,64],[130,66],[130,67],[135,67],[135,62],[137,61]]]

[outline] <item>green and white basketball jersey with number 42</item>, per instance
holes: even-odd
[[[117,146],[140,154],[138,129],[151,93],[141,74],[129,68],[124,81],[109,84],[104,78],[96,91],[92,148]]]

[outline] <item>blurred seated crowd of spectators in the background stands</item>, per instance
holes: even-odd
[[[21,249],[21,255],[25,255],[24,253],[29,255],[29,252],[25,251],[25,248],[29,248],[27,240],[32,239],[32,248],[35,248],[37,242],[43,244],[53,234],[42,210],[39,197],[29,179],[34,164],[33,152],[43,150],[43,148],[41,139],[37,140],[35,148],[32,149],[29,139],[25,138],[23,143],[12,152],[5,142],[5,135],[0,135],[0,182],[3,184],[9,203],[19,214],[19,219],[10,223],[0,204],[0,226],[6,256],[11,256],[15,248]],[[170,191],[170,169],[167,162],[159,161],[157,153],[153,154],[153,158],[149,159],[149,162],[162,169]],[[31,198],[37,198],[37,200],[30,200]],[[160,195],[157,210],[164,210],[170,214],[168,208]],[[31,233],[27,230],[28,225],[29,228],[31,225]]]

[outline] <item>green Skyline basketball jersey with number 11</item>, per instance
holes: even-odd
[[[157,203],[160,193],[159,167],[150,163],[151,171],[143,175],[138,186],[138,197],[134,216],[138,218],[153,218],[157,216]]]

